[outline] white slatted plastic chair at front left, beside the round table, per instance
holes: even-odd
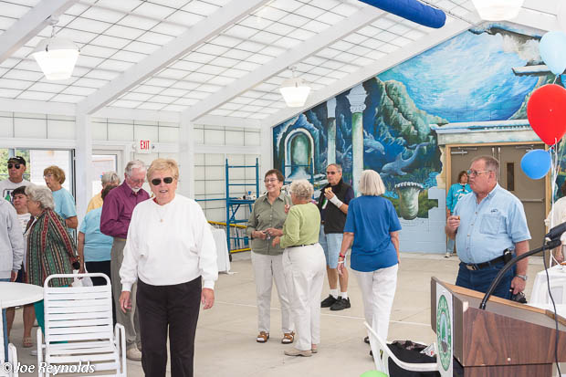
[[[54,278],[87,276],[105,278],[106,285],[49,287]],[[104,375],[127,376],[126,334],[119,323],[112,330],[112,295],[106,275],[51,275],[44,283],[44,306],[46,334],[43,342],[41,329],[37,329],[37,365],[45,362],[46,368],[38,368],[39,376],[55,374],[51,373],[55,368],[73,375],[109,371]],[[82,369],[77,370],[79,366]]]

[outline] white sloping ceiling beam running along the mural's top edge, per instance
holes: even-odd
[[[455,21],[447,24],[441,29],[432,31],[425,37],[422,37],[419,40],[415,40],[414,42],[397,49],[393,53],[388,54],[386,57],[383,57],[368,66],[358,69],[344,79],[340,79],[324,89],[313,92],[309,96],[309,99],[307,100],[305,106],[301,108],[286,108],[276,112],[265,120],[261,120],[262,126],[277,126],[281,122],[288,120],[305,110],[309,110],[314,106],[317,106],[321,102],[324,102],[325,100],[334,97],[345,90],[351,89],[359,83],[367,79],[371,79],[372,77],[379,75],[389,68],[393,68],[396,65],[403,63],[405,60],[413,58],[425,52],[426,50],[444,42],[445,40],[450,39],[451,37],[457,36],[458,34],[466,31],[469,27],[471,27],[470,24],[466,23],[465,21],[456,19]]]

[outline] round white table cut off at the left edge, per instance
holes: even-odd
[[[0,282],[0,309],[31,304],[43,299],[43,287],[31,284]],[[4,329],[0,320],[0,365],[5,362]],[[0,371],[0,376],[3,372]]]

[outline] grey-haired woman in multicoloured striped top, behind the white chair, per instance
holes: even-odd
[[[77,261],[75,240],[68,234],[65,220],[55,213],[53,194],[46,186],[26,187],[27,209],[36,217],[27,234],[26,282],[43,287],[53,274],[72,274]],[[51,287],[66,287],[72,278],[54,278]],[[43,300],[34,304],[37,323],[45,334]]]

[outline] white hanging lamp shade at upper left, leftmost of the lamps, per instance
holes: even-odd
[[[79,47],[69,39],[50,37],[39,42],[31,55],[36,58],[46,79],[68,79],[79,58]]]

